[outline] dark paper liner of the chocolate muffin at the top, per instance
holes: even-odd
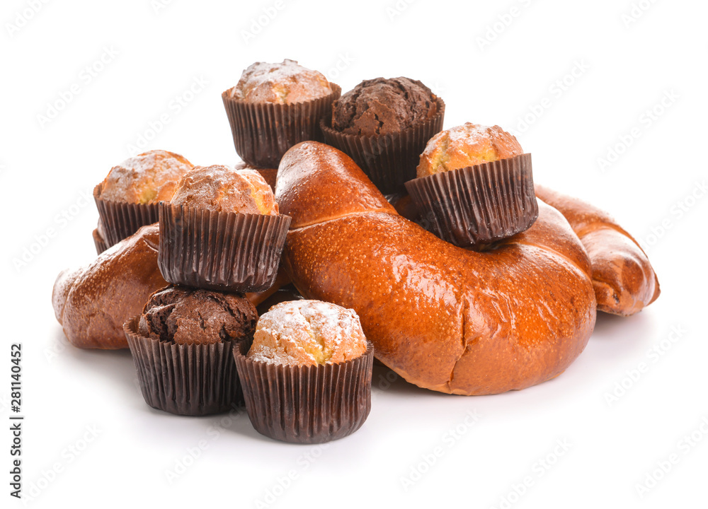
[[[384,193],[400,192],[404,182],[416,177],[421,153],[430,138],[442,130],[445,102],[437,98],[438,112],[433,118],[394,134],[358,136],[331,128],[331,120],[322,120],[325,143],[346,153]]]

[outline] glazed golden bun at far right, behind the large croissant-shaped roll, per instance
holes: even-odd
[[[536,196],[558,209],[583,242],[593,264],[598,310],[634,315],[658,298],[659,281],[649,258],[607,213],[539,185]]]

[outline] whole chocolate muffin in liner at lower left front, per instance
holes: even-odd
[[[145,402],[178,415],[229,411],[243,402],[234,348],[250,340],[258,315],[238,293],[167,286],[127,320]]]

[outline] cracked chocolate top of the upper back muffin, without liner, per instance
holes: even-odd
[[[435,94],[417,80],[365,80],[332,104],[332,128],[344,134],[389,134],[432,118]]]

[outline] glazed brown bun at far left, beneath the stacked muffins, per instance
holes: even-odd
[[[86,267],[59,274],[52,305],[69,343],[83,349],[128,347],[123,322],[167,285],[157,268],[158,245],[157,224],[143,226]]]

